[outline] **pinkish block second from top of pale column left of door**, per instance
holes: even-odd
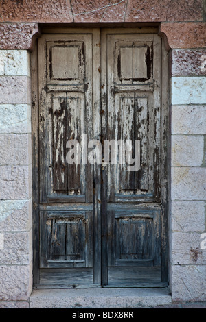
[[[0,104],[30,104],[30,92],[30,77],[0,77]]]

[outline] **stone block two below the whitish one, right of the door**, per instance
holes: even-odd
[[[204,136],[172,135],[172,166],[201,166]]]

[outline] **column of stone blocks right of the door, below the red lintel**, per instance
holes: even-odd
[[[206,250],[200,247],[206,200],[203,60],[206,49],[172,50],[171,286],[175,301],[206,297]]]

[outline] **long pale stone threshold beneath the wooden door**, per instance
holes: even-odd
[[[30,296],[30,308],[155,308],[170,304],[168,288],[38,289]]]

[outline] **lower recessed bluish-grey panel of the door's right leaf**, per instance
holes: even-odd
[[[153,266],[154,221],[146,212],[119,212],[116,219],[115,266]]]

